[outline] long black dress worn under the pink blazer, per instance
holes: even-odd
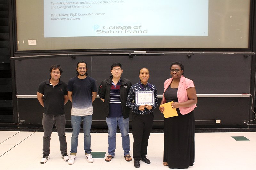
[[[164,92],[166,103],[178,102],[178,88],[169,87]],[[195,162],[194,111],[164,119],[164,162],[169,168],[185,169]]]

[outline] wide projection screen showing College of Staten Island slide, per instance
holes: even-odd
[[[176,0],[104,2],[16,0],[17,52],[118,49],[246,50],[250,46],[250,0],[182,0],[178,1],[175,7],[173,3],[177,2]],[[67,11],[69,6],[71,9]],[[200,15],[203,16],[197,17]],[[190,16],[194,18],[189,18]],[[105,19],[99,20],[100,17]],[[70,18],[80,18],[81,23],[70,22]],[[106,18],[109,20],[106,21]],[[64,19],[67,22],[62,22]],[[92,23],[94,20],[98,24]],[[111,23],[108,25],[107,22]],[[87,25],[89,30],[93,29],[94,32],[79,34],[81,28]],[[52,34],[51,30],[55,30],[55,34]],[[116,36],[113,36],[114,34]]]

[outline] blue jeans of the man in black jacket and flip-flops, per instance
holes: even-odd
[[[108,125],[108,154],[115,156],[117,124],[121,132],[124,155],[130,154],[129,117],[106,117]]]

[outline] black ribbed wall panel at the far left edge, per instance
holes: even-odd
[[[0,123],[14,123],[8,1],[0,1]]]

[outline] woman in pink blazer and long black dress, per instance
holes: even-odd
[[[164,119],[164,166],[185,169],[194,165],[195,127],[194,108],[197,103],[196,89],[192,80],[183,76],[184,66],[173,62],[170,67],[172,78],[164,82],[161,104],[171,102],[178,116]],[[159,107],[164,112],[164,107]]]

